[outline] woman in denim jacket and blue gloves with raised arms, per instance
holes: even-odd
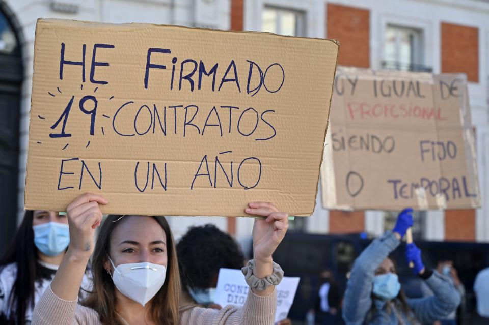
[[[460,295],[453,284],[437,271],[427,270],[421,250],[406,246],[406,260],[413,273],[423,279],[434,296],[407,299],[401,290],[396,268],[388,255],[399,246],[413,225],[413,209],[404,209],[394,229],[374,240],[355,261],[347,283],[343,319],[346,324],[424,324],[443,319],[456,310]]]

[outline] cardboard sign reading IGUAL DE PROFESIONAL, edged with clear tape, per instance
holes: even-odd
[[[339,67],[334,90],[325,208],[480,205],[465,75]]]

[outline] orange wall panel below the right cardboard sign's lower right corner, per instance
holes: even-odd
[[[475,210],[445,211],[445,240],[475,241]]]

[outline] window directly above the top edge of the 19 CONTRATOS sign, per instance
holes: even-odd
[[[301,11],[265,7],[261,17],[261,31],[280,35],[305,36],[304,13]]]

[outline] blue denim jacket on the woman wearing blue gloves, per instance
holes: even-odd
[[[450,280],[436,271],[426,279],[426,284],[434,292],[434,296],[408,299],[412,313],[406,315],[400,306],[397,313],[402,322],[398,322],[396,313],[382,300],[372,299],[373,277],[375,269],[400,244],[397,237],[390,231],[375,239],[357,258],[350,279],[348,280],[344,298],[343,319],[347,325],[367,324],[366,317],[374,304],[374,314],[369,325],[402,324],[413,325],[432,323],[444,319],[460,304],[460,294]],[[393,303],[390,303],[393,304]]]

